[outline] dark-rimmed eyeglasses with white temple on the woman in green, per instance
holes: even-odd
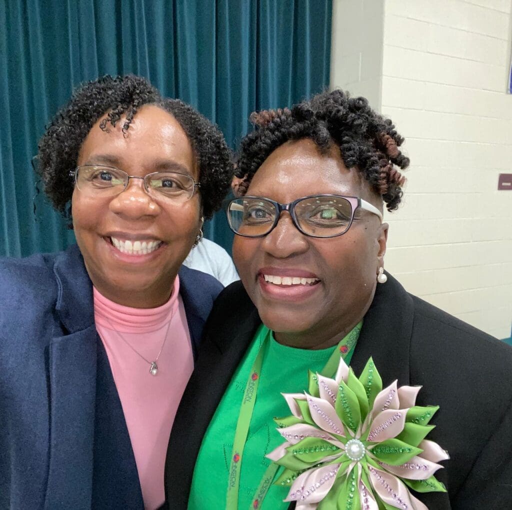
[[[243,237],[269,234],[283,211],[288,211],[293,225],[307,236],[337,237],[349,230],[359,208],[375,214],[382,221],[381,212],[366,200],[329,194],[304,196],[289,204],[261,196],[243,196],[228,203],[226,214],[229,228]]]

